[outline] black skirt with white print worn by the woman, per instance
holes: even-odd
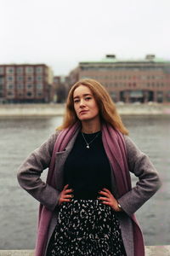
[[[125,256],[116,212],[99,200],[62,203],[46,255]]]

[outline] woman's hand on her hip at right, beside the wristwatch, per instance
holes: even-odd
[[[111,191],[109,189],[101,189],[98,193],[100,195],[105,195],[105,197],[98,197],[98,199],[101,200],[103,204],[110,206],[116,212],[121,212],[121,209],[118,207],[118,202],[116,201],[116,198],[111,194]]]

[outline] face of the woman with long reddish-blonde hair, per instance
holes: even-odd
[[[74,109],[81,121],[99,119],[99,108],[92,91],[85,85],[80,85],[73,93]]]

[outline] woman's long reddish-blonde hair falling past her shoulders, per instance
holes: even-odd
[[[63,130],[71,125],[74,125],[79,119],[77,118],[77,113],[74,109],[73,94],[74,90],[78,86],[87,86],[89,90],[92,91],[94,99],[99,107],[100,118],[109,123],[113,128],[121,131],[122,134],[128,134],[126,127],[122,123],[120,115],[117,113],[116,105],[111,100],[111,96],[105,90],[105,87],[94,79],[81,79],[76,84],[71,87],[69,95],[66,101],[65,118],[63,125],[59,126],[58,130]]]

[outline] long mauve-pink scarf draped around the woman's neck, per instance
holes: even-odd
[[[54,188],[56,188],[53,178],[55,153],[65,149],[67,144],[70,142],[71,137],[73,137],[77,129],[79,129],[79,126],[80,125],[77,123],[70,128],[61,131],[54,144],[54,151],[52,154],[47,177],[47,183]],[[116,178],[119,197],[121,197],[132,188],[130,174],[127,167],[127,150],[124,138],[122,133],[113,129],[111,125],[103,124],[102,141]],[[36,256],[44,255],[45,248],[47,246],[48,226],[50,224],[51,217],[52,212],[40,204],[35,253]],[[144,256],[144,241],[142,232],[139,229],[139,224],[137,223],[134,214],[131,216],[131,218],[133,219],[134,255]]]

